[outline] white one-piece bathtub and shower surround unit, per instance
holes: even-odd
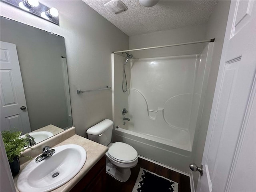
[[[132,58],[126,65],[127,92],[122,91],[125,58],[112,54],[114,139],[132,145],[141,156],[188,172],[211,52],[212,44],[206,44],[200,54]]]

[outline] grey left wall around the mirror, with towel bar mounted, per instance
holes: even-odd
[[[73,124],[76,133],[112,119],[111,90],[77,94],[111,85],[111,53],[128,49],[129,37],[82,1],[41,1],[60,12],[60,26],[0,2],[1,16],[64,36]]]

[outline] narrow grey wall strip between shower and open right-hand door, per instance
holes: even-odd
[[[202,120],[200,129],[198,132],[198,143],[195,152],[194,162],[197,165],[201,164],[202,154],[204,152],[204,143],[206,139],[206,133],[209,124],[210,112],[212,109],[212,100],[214,96],[214,90],[218,75],[218,69],[220,64],[220,56],[222,52],[222,46],[224,41],[224,35],[226,31],[226,23],[228,20],[228,12],[230,7],[230,1],[218,1],[214,11],[207,24],[206,39],[215,37],[213,53],[212,53],[212,64],[209,73],[208,85],[206,90],[206,96],[204,101],[204,108],[202,113]],[[198,181],[199,172],[193,172],[194,184]]]

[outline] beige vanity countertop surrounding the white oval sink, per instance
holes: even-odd
[[[77,145],[82,146],[87,152],[87,158],[86,158],[86,162],[85,162],[84,166],[82,167],[82,169],[80,170],[80,172],[78,172],[78,174],[76,174],[76,176],[74,176],[69,182],[67,182],[66,184],[53,190],[54,192],[70,191],[79,182],[79,180],[81,178],[83,178],[86,175],[86,173],[98,162],[98,160],[100,160],[100,158],[102,158],[102,156],[104,156],[104,154],[108,151],[108,147],[103,146],[101,144],[98,144],[96,142],[93,142],[91,140],[88,140],[88,139],[83,138],[78,135],[73,135],[70,138],[67,138],[66,140],[53,146],[52,148],[61,146],[61,145],[66,145],[66,144],[77,144]],[[20,172],[25,168],[25,166],[29,162],[30,161],[27,161],[20,165]],[[18,179],[18,176],[19,176],[19,174],[14,177],[15,187],[16,187],[16,181]],[[16,188],[16,191],[19,192],[19,190],[17,188]]]

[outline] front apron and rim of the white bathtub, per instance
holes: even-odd
[[[192,153],[182,149],[184,146],[182,143],[162,140],[162,138],[126,130],[120,126],[114,128],[113,140],[133,146],[142,157],[190,174],[188,165],[192,162]]]

